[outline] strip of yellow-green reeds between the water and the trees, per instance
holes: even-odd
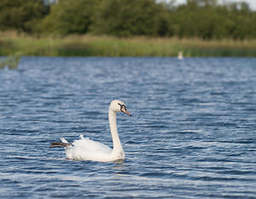
[[[0,32],[0,56],[160,56],[176,57],[256,57],[256,40],[202,40],[177,37],[111,37],[69,35],[35,37]]]

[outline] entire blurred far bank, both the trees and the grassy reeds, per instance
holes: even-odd
[[[256,57],[255,21],[242,0],[1,0],[0,56]]]

